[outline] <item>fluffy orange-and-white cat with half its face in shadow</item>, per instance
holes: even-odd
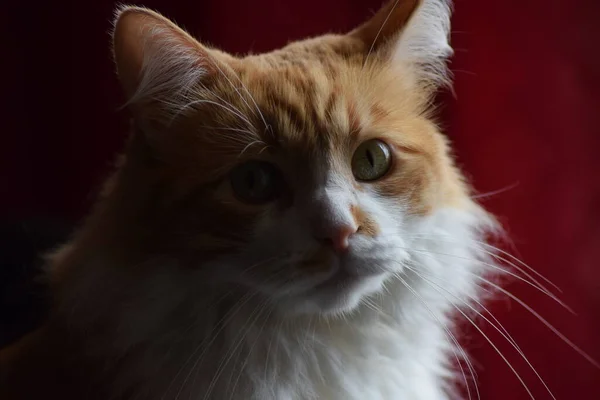
[[[460,398],[497,224],[433,115],[450,14],[393,0],[238,57],[119,8],[132,135],[0,398]]]

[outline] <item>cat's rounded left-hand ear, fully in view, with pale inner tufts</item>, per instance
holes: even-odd
[[[117,10],[113,30],[117,74],[136,114],[177,106],[187,91],[216,73],[212,51],[162,15]]]

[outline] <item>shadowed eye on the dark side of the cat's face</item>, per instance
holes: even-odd
[[[235,167],[229,176],[235,196],[244,203],[262,204],[280,193],[282,176],[273,164],[248,161]]]

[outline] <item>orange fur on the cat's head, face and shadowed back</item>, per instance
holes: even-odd
[[[86,346],[111,320],[93,322],[97,331],[72,337],[85,324],[76,321],[68,330],[68,315],[77,308],[71,303],[77,296],[87,296],[86,304],[98,309],[106,301],[115,309],[125,305],[91,288],[87,293],[71,288],[81,286],[82,269],[92,268],[99,254],[114,268],[129,266],[118,273],[135,281],[144,274],[140,263],[149,252],[179,253],[184,259],[194,253],[210,260],[235,251],[262,212],[260,206],[240,204],[224,184],[228,171],[243,160],[268,160],[297,175],[327,153],[339,173],[353,181],[354,150],[366,139],[381,138],[392,147],[394,165],[377,182],[353,182],[356,189],[370,185],[382,196],[404,199],[416,215],[443,206],[469,207],[468,189],[428,113],[431,88],[415,87],[410,69],[390,65],[382,56],[418,3],[401,2],[379,36],[389,6],[349,35],[325,35],[242,58],[202,46],[154,12],[122,11],[115,58],[125,92],[134,95],[143,68],[143,55],[132,58],[128,53],[138,45],[125,39],[135,40],[158,26],[198,55],[205,69],[202,85],[184,100],[201,95],[205,102],[188,106],[182,101],[183,109],[173,111],[164,107],[164,93],[159,93],[132,104],[144,133],[134,132],[94,212],[73,241],[50,258],[54,311],[44,328],[1,353],[0,397],[60,393],[65,400],[107,398],[102,396],[112,377],[95,364],[95,349]],[[379,227],[363,210],[351,206],[351,211],[361,232],[378,234]],[[318,269],[322,257],[316,254],[307,268]],[[96,391],[87,393],[89,388]]]

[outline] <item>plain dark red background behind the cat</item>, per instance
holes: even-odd
[[[1,24],[6,116],[1,217],[77,220],[122,148],[126,115],[109,52],[115,3],[12,2]],[[51,4],[50,4],[51,3]],[[142,2],[133,2],[142,3]],[[230,52],[344,31],[381,0],[147,0],[201,40]],[[518,3],[518,6],[517,6]],[[508,289],[600,359],[600,2],[457,0],[456,98],[442,96],[460,164],[505,223],[518,255],[557,283],[573,316],[531,287]],[[11,56],[12,55],[12,56]],[[600,398],[600,370],[515,302],[494,314],[558,399]],[[510,346],[486,327],[536,399],[549,399]],[[473,329],[482,399],[527,399]]]

